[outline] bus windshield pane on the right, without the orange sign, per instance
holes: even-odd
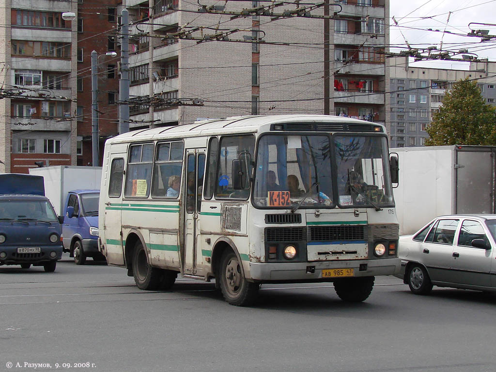
[[[335,135],[334,157],[340,207],[392,206],[385,137]]]

